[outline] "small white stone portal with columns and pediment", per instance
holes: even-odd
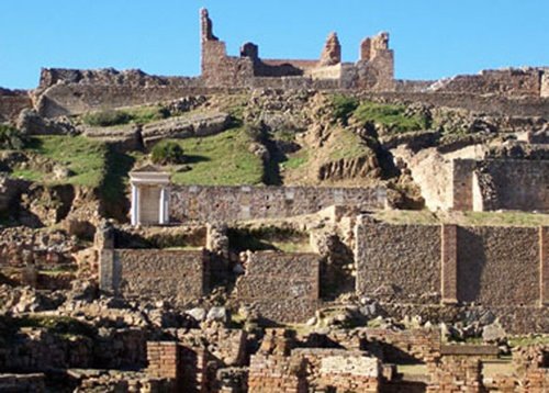
[[[170,176],[148,165],[130,172],[132,225],[169,224]]]

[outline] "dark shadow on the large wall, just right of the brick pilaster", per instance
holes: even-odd
[[[486,265],[484,244],[481,236],[458,227],[458,245],[463,245],[458,247],[458,299],[461,302],[474,302],[480,297]]]

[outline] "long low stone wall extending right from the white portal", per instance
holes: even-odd
[[[377,188],[202,187],[170,190],[170,220],[175,222],[234,222],[316,213],[332,205],[359,210],[384,209],[386,191]]]

